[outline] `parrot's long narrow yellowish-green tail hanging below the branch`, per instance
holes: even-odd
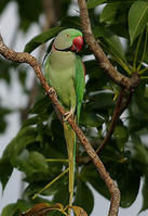
[[[69,205],[71,206],[75,185],[76,134],[67,123],[64,123],[64,132],[69,157]]]

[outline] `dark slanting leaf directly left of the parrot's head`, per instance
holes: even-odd
[[[63,30],[63,27],[54,27],[49,30],[45,30],[44,33],[36,36],[32,38],[26,46],[24,51],[25,52],[32,52],[36,48],[38,48],[40,45],[46,42],[48,40],[55,37],[60,30]]]

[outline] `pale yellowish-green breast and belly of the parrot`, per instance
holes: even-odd
[[[67,111],[76,109],[75,62],[76,54],[72,52],[53,51],[50,55],[49,80]]]

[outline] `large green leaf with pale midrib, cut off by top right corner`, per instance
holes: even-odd
[[[135,38],[144,30],[148,22],[148,2],[136,1],[129,12],[129,31],[131,45]]]

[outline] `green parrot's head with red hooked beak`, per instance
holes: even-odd
[[[75,28],[62,30],[56,36],[53,46],[58,51],[79,52],[83,47],[82,33]]]

